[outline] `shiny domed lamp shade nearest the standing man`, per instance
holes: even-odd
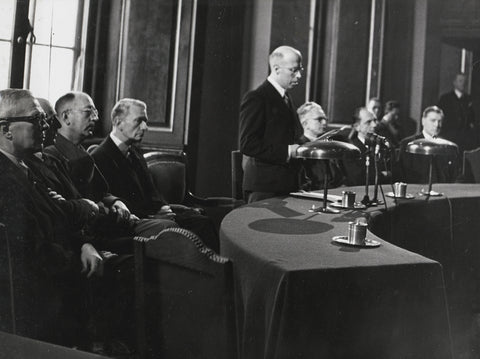
[[[299,146],[295,157],[318,160],[356,159],[360,158],[360,150],[351,143],[320,140]]]

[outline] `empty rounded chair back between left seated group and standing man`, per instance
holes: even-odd
[[[187,158],[181,150],[161,150],[144,155],[157,190],[168,203],[182,203],[187,191]]]

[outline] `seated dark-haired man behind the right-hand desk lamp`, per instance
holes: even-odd
[[[443,111],[437,106],[427,107],[422,114],[422,132],[400,142],[397,180],[409,183],[427,183],[429,158],[405,152],[407,144],[419,138],[435,139],[441,134]],[[435,156],[433,162],[432,182],[454,182],[458,175],[458,157]]]

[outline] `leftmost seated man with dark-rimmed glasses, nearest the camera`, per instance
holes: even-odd
[[[91,277],[104,259],[93,238],[83,234],[83,224],[67,215],[65,206],[72,203],[52,193],[25,164],[41,148],[45,119],[30,91],[0,91],[0,221],[10,239],[10,280],[18,291],[11,293],[17,334],[78,345],[85,317],[80,271]]]

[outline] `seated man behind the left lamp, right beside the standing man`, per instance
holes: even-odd
[[[322,107],[315,102],[306,102],[297,110],[303,127],[303,135],[298,143],[303,145],[315,141],[327,128],[327,116]],[[328,162],[328,187],[335,188],[343,183],[344,176],[336,160]],[[300,185],[303,190],[313,191],[323,188],[325,178],[325,162],[304,159],[300,171]]]

